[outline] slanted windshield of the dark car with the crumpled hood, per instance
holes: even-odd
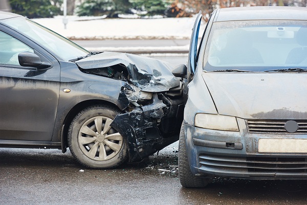
[[[88,51],[67,38],[24,17],[8,18],[1,20],[1,22],[31,38],[38,45],[51,50],[63,60],[70,60],[89,54]]]

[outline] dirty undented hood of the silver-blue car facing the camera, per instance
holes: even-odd
[[[307,118],[307,73],[202,75],[219,114],[244,119]]]

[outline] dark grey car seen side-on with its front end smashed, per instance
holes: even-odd
[[[0,52],[0,147],[69,147],[82,165],[101,169],[178,140],[186,94],[164,61],[88,52],[7,12]]]

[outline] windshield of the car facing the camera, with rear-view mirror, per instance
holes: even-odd
[[[307,69],[307,22],[245,20],[213,23],[206,71]]]

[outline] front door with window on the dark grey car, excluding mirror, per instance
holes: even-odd
[[[51,68],[21,67],[18,54],[23,51],[49,61]],[[6,144],[7,140],[51,140],[59,81],[60,66],[53,56],[43,53],[28,38],[0,25],[0,144]]]

